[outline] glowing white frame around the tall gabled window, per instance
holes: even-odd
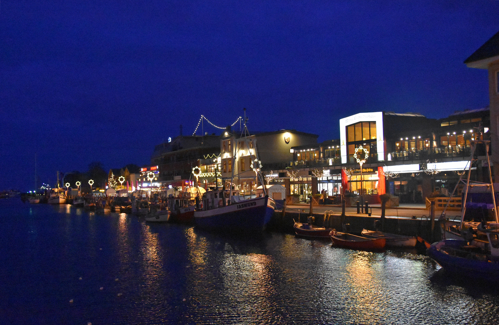
[[[359,113],[344,119],[340,119],[340,150],[341,163],[347,162],[348,152],[346,147],[346,127],[358,122],[376,122],[376,148],[378,151],[378,161],[385,160],[385,149],[383,139],[383,112]]]

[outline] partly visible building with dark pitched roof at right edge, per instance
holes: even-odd
[[[493,165],[499,164],[499,32],[480,46],[465,61],[470,68],[489,71],[489,100],[491,147]],[[499,168],[493,171],[495,181],[499,180]]]

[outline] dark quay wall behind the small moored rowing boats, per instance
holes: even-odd
[[[323,226],[324,214],[314,213],[314,225]],[[301,222],[307,222],[308,213],[299,213]],[[294,221],[298,221],[298,213],[286,212],[284,217],[281,211],[275,211],[267,229],[271,231],[294,233]],[[338,231],[343,231],[343,224],[350,224],[348,232],[352,234],[360,234],[362,229],[374,230],[374,221],[381,220],[379,216],[366,216],[366,215],[352,215],[347,214],[344,217],[341,214],[333,214],[329,218],[329,227]],[[407,219],[407,218],[385,218],[385,232],[407,235],[407,236],[421,236],[423,239],[430,243],[441,240],[440,223],[435,220],[435,227],[432,233],[431,220],[427,219]]]

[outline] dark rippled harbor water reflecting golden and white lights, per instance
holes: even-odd
[[[0,200],[0,324],[498,324],[427,256]]]

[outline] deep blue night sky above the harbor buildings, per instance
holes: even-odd
[[[485,107],[487,71],[463,61],[498,13],[480,0],[1,1],[0,190],[33,189],[35,152],[51,183],[93,161],[147,164],[201,114],[226,126],[246,107],[250,130],[324,141],[359,112]]]

